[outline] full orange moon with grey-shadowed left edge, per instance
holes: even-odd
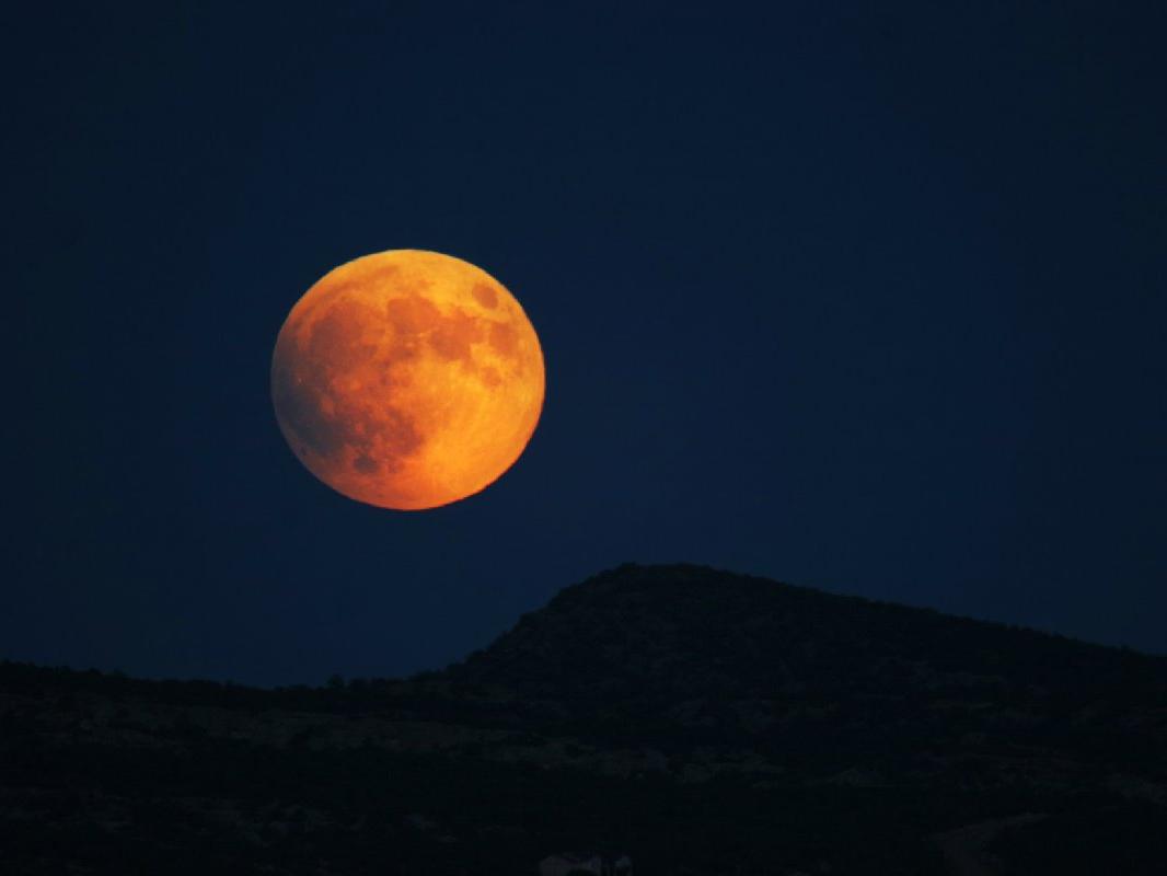
[[[324,274],[272,356],[288,446],[358,502],[456,502],[511,467],[543,409],[539,338],[515,297],[453,256],[390,250]]]

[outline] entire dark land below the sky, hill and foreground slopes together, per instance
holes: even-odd
[[[0,872],[1167,872],[1167,660],[697,566],[411,680],[0,665]]]

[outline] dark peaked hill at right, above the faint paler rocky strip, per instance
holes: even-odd
[[[1167,763],[1162,724],[1138,717],[1167,702],[1161,658],[691,565],[569,586],[446,677],[517,691],[548,728],[616,739],[776,756],[795,741],[839,764],[1034,746]]]

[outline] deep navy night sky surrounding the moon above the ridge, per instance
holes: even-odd
[[[627,561],[1167,651],[1162,4],[158,6],[6,23],[0,658],[406,674]],[[268,389],[399,248],[547,367],[424,513]]]

